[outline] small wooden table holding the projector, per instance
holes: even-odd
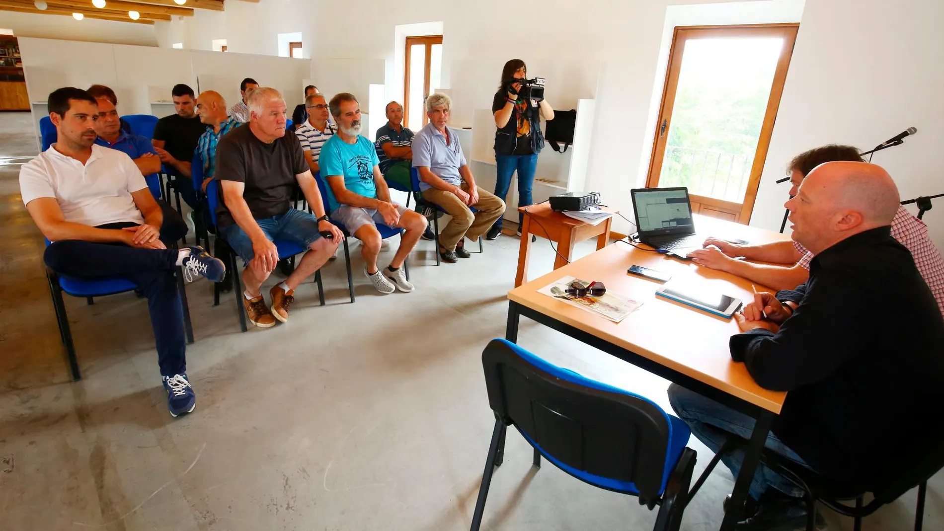
[[[527,212],[526,212],[527,209]],[[601,207],[614,214],[619,210]],[[554,269],[570,263],[574,245],[580,241],[597,237],[597,249],[602,249],[610,241],[610,226],[613,218],[592,225],[565,216],[550,209],[548,203],[518,207],[524,220],[521,222],[521,247],[518,250],[518,274],[514,277],[514,287],[528,282],[528,263],[531,261],[531,236],[540,236],[557,243],[557,256],[554,257]]]

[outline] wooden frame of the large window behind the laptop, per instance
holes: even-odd
[[[675,92],[678,89],[679,74],[682,70],[682,57],[684,54],[684,46],[680,47],[678,45],[680,38],[683,39],[681,42],[684,42],[688,39],[697,39],[700,37],[717,37],[720,31],[724,32],[724,37],[783,37],[784,47],[777,61],[777,69],[774,71],[770,97],[767,99],[767,110],[764,114],[764,122],[761,125],[760,138],[757,141],[753,164],[750,167],[747,191],[745,191],[744,202],[740,204],[740,212],[736,218],[738,223],[750,223],[750,215],[753,212],[754,202],[757,199],[757,189],[760,186],[761,174],[764,172],[764,164],[767,161],[770,137],[773,133],[773,126],[777,120],[777,111],[780,108],[781,96],[784,94],[786,73],[790,66],[790,59],[793,56],[793,47],[797,41],[797,31],[799,28],[799,24],[680,25],[675,27],[675,32],[672,36],[672,47],[668,57],[668,68],[666,69],[666,82],[663,86],[662,101],[659,104],[659,120],[656,121],[652,153],[649,158],[649,174],[646,179],[647,188],[653,188],[658,185],[659,177],[662,173],[663,159],[666,156],[666,142],[668,141],[668,132],[671,127],[672,108],[675,105]],[[665,130],[662,132],[665,133],[665,135],[663,136],[660,134],[660,131],[664,123]],[[713,197],[698,197],[698,202],[702,205],[724,208],[726,210],[738,209],[737,203],[715,199]]]

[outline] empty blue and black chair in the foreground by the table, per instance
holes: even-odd
[[[494,469],[514,425],[541,456],[594,487],[636,496],[659,507],[655,531],[678,531],[688,503],[696,453],[691,432],[654,402],[558,367],[506,340],[481,354],[495,430],[482,474],[471,531],[478,531]]]

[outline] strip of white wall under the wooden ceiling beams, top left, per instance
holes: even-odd
[[[3,10],[0,10],[0,25],[11,28],[17,37],[158,45],[153,25],[88,18],[77,21],[68,15],[40,15]],[[170,47],[170,44],[167,46]]]

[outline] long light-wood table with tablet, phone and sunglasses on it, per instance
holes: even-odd
[[[744,239],[752,243],[786,239],[783,234],[747,225],[703,216],[696,218],[699,233],[706,237]],[[743,363],[732,361],[728,339],[739,332],[733,319],[715,317],[655,297],[655,290],[661,284],[627,274],[631,265],[666,272],[673,279],[687,278],[710,284],[745,302],[753,298],[750,282],[744,278],[617,241],[509,291],[506,339],[517,341],[518,321],[523,315],[755,418],[757,423],[732,494],[731,506],[742,507],[770,425],[780,413],[786,395],[762,389]],[[643,306],[617,324],[538,292],[566,275],[602,281],[607,290],[632,298]],[[767,290],[762,286],[757,288]],[[727,512],[721,529],[733,529],[739,513],[739,510]]]

